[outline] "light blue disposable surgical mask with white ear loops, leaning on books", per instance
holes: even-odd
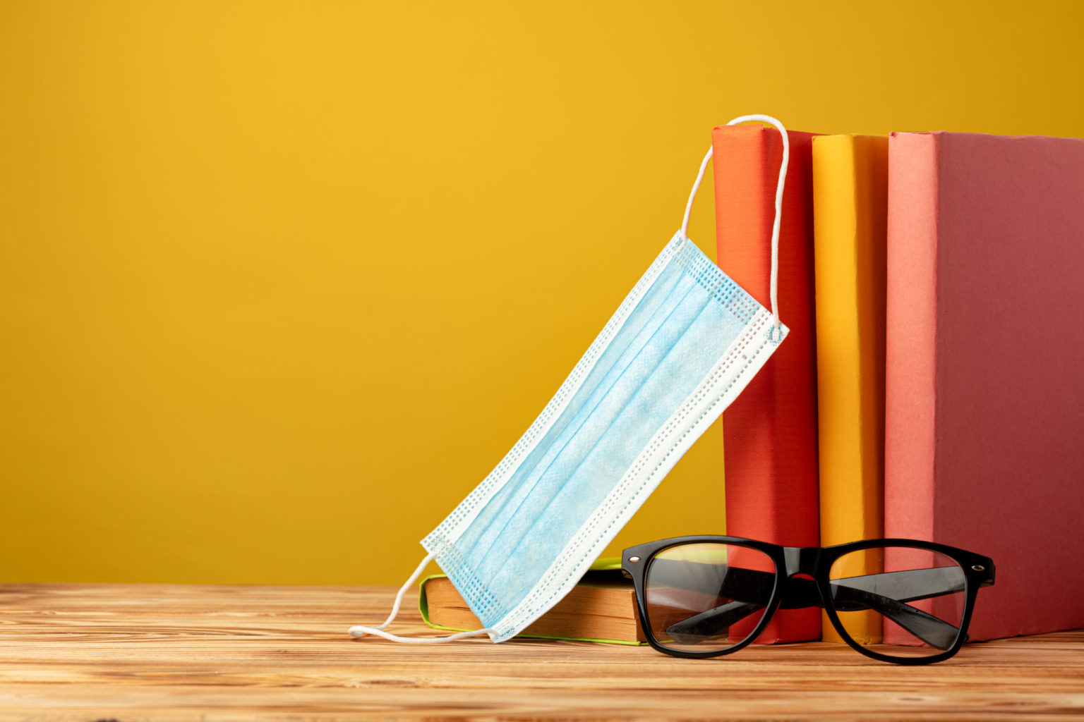
[[[586,353],[496,469],[422,541],[428,555],[391,615],[354,636],[503,642],[579,581],[662,477],[719,418],[787,334],[776,311],[783,165],[772,232],[772,311],[734,283],[687,235],[711,150],[681,229],[636,283]],[[763,242],[750,238],[749,242]],[[383,631],[403,594],[436,560],[483,629],[437,639]]]

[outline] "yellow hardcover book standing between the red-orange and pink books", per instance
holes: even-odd
[[[883,536],[885,274],[888,137],[813,139],[821,543]],[[869,574],[855,555],[841,576]],[[842,619],[842,617],[841,617]],[[854,639],[880,636],[866,612],[842,619]],[[842,641],[823,618],[828,641]]]

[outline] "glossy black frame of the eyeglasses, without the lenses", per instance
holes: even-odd
[[[645,598],[645,579],[647,577],[647,568],[650,566],[653,560],[659,554],[659,552],[673,547],[691,543],[722,543],[745,547],[766,554],[775,564],[775,585],[772,589],[771,599],[764,606],[764,613],[761,616],[757,628],[746,639],[741,640],[734,646],[726,647],[724,649],[692,652],[687,649],[673,649],[667,647],[655,639],[655,632],[651,630],[650,622],[647,618],[647,604]],[[830,602],[831,590],[829,586],[830,580],[828,578],[829,570],[831,569],[831,565],[840,556],[851,552],[862,551],[864,549],[875,549],[877,547],[907,547],[912,549],[922,549],[937,552],[955,561],[964,570],[965,598],[959,633],[956,635],[952,645],[944,652],[927,657],[893,657],[863,647],[861,644],[852,640],[851,635],[847,632],[847,629],[843,627],[842,621],[840,621],[839,616],[836,614],[836,609]],[[834,547],[780,547],[779,544],[773,544],[766,541],[757,541],[754,539],[745,539],[743,537],[714,535],[672,537],[670,539],[659,539],[658,541],[637,544],[625,549],[621,555],[621,568],[625,576],[632,578],[633,586],[636,591],[636,606],[640,612],[640,621],[643,626],[644,635],[647,638],[648,644],[663,654],[673,655],[675,657],[717,657],[737,652],[738,649],[748,646],[767,627],[767,623],[771,621],[775,611],[779,608],[780,603],[784,601],[784,596],[790,595],[799,598],[799,602],[790,603],[785,608],[820,606],[827,613],[833,627],[835,627],[836,631],[839,632],[839,635],[843,639],[843,641],[847,642],[847,644],[849,644],[853,649],[867,657],[896,665],[930,665],[952,657],[964,645],[967,641],[967,628],[971,621],[971,614],[975,611],[975,600],[978,596],[979,588],[989,587],[994,583],[994,562],[989,556],[976,554],[975,552],[959,549],[957,547],[939,544],[932,541],[900,538],[863,539],[862,541],[851,541],[844,544],[836,544]],[[808,586],[810,583],[809,579],[801,577],[796,578],[795,575],[799,574],[812,577],[812,581],[816,586],[816,590],[820,594],[818,600],[808,593]]]

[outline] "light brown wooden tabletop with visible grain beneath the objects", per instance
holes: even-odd
[[[1084,717],[1084,631],[899,667],[849,647],[679,659],[554,641],[351,639],[383,587],[0,586],[0,720]],[[395,630],[437,635],[413,605]]]

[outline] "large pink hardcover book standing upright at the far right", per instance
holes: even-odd
[[[1084,627],[1084,140],[893,133],[885,530],[993,557],[972,640]]]

